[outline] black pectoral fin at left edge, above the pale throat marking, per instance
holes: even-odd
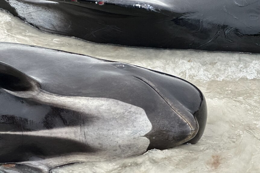
[[[30,76],[0,61],[0,88],[11,92],[37,91],[40,84]]]

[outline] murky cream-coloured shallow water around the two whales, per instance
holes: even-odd
[[[205,95],[208,122],[197,144],[53,172],[260,172],[260,54],[99,45],[43,33],[1,10],[0,41],[132,63],[186,79]]]

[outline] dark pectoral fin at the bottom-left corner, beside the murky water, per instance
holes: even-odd
[[[46,167],[40,168],[27,163],[5,163],[0,165],[1,173],[49,173]]]

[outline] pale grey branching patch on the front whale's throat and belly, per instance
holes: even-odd
[[[10,93],[19,96],[17,93]],[[59,138],[61,140],[66,139],[85,144],[89,148],[94,148],[94,151],[91,152],[86,150],[85,152],[74,154],[63,153],[61,156],[44,160],[39,157],[36,163],[48,165],[48,168],[71,162],[89,162],[140,155],[149,146],[149,139],[144,137],[144,135],[151,131],[152,125],[146,113],[140,107],[108,98],[66,97],[44,91],[40,91],[36,97],[31,97],[31,99],[38,103],[45,103],[92,116],[91,122],[83,123],[79,126],[38,131],[0,132],[0,135],[23,135],[24,138],[30,136],[35,138],[49,137],[57,140]],[[1,113],[4,112],[1,111]],[[1,143],[3,145],[3,142]],[[15,143],[12,142],[12,145],[15,145]],[[26,144],[25,141],[23,143]],[[30,159],[33,160],[35,158]]]

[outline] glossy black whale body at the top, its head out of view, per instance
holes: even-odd
[[[258,0],[95,2],[0,0],[0,8],[44,32],[90,42],[260,53]]]

